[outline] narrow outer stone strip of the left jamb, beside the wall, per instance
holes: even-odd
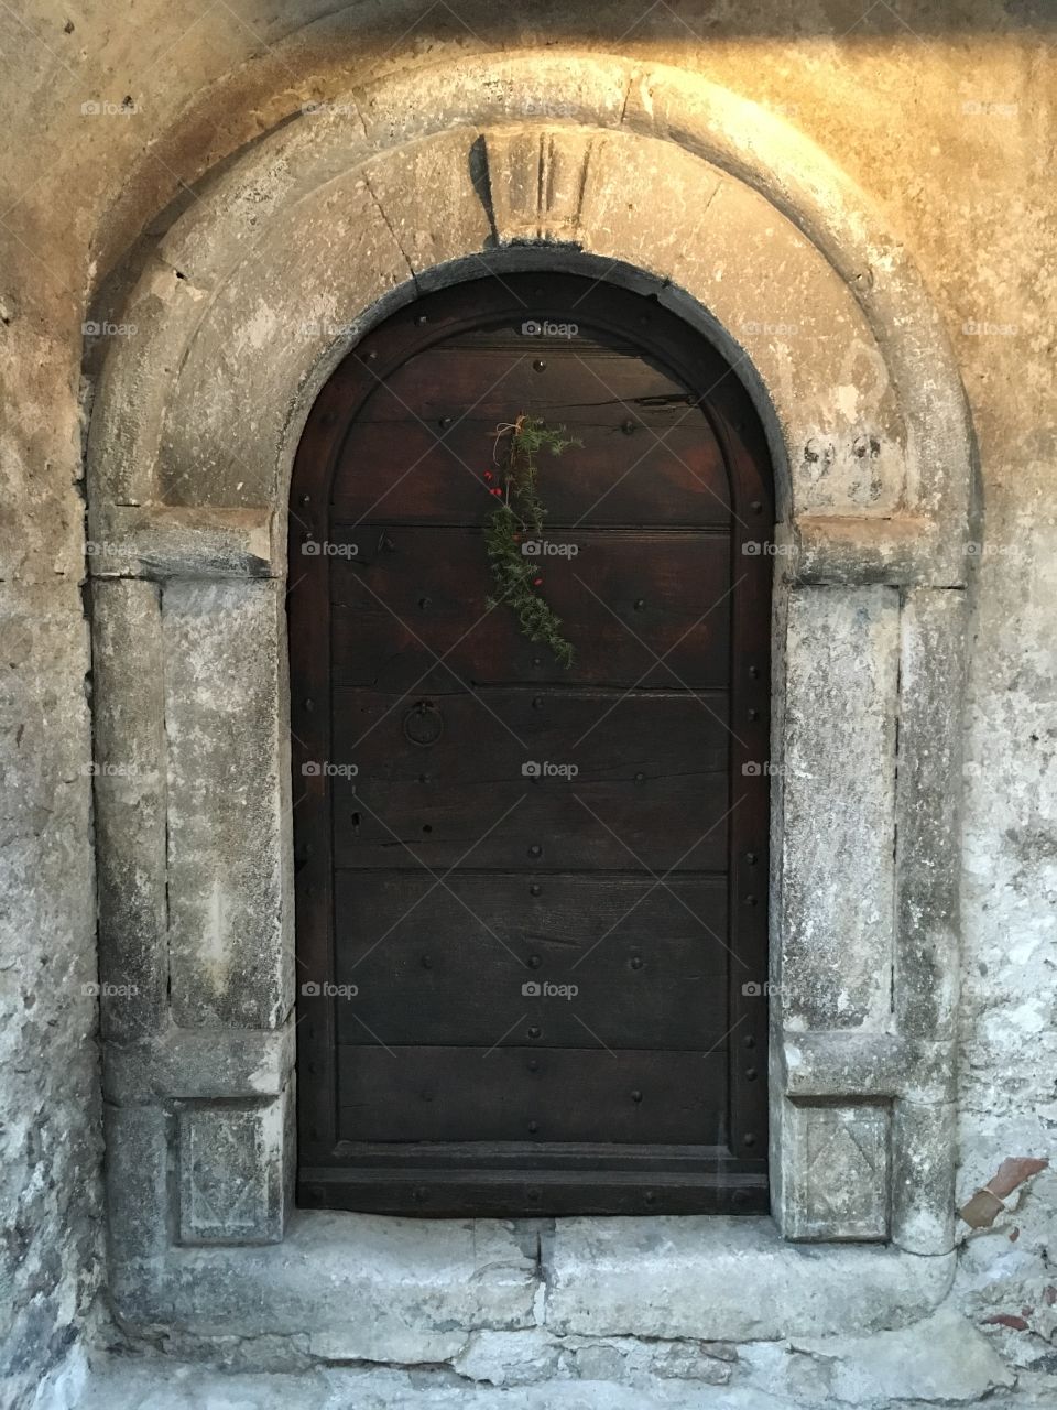
[[[92,605],[100,1008],[103,1032],[127,1039],[168,1005],[159,589],[96,582]]]

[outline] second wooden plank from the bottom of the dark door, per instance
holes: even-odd
[[[544,1046],[712,1048],[730,1026],[723,877],[334,883],[342,1043],[490,1048],[534,1026]]]

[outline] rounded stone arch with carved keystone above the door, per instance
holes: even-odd
[[[465,262],[569,251],[651,276],[723,345],[771,424],[809,563],[850,537],[882,571],[910,553],[910,577],[960,581],[964,398],[898,243],[758,106],[676,69],[552,52],[309,104],[209,185],[107,361],[93,506],[283,503],[314,392],[366,327]],[[834,544],[819,519],[872,532],[848,523]]]

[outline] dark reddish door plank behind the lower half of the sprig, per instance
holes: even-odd
[[[576,657],[528,642],[502,603],[478,529],[335,526],[337,685],[474,684],[722,688],[729,678],[730,547],[710,533],[575,533],[540,563]],[[443,657],[443,663],[441,663]]]

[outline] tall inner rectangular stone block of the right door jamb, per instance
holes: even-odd
[[[792,1029],[889,1024],[899,594],[801,588],[784,643],[777,1007]]]

